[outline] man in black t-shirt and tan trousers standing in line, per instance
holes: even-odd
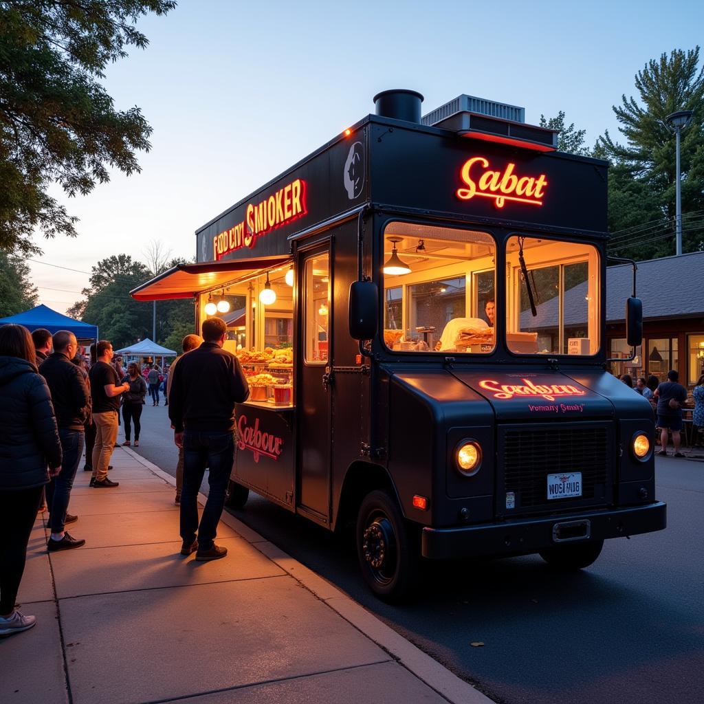
[[[118,413],[120,394],[130,390],[130,384],[121,384],[118,373],[111,365],[113,345],[101,340],[96,346],[98,361],[91,367],[90,390],[93,398],[93,420],[96,425],[95,446],[93,448],[93,476],[90,486],[96,489],[118,486],[120,482],[108,479],[115,440],[118,439]]]

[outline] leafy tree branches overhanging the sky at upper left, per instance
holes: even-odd
[[[135,27],[175,0],[0,0],[0,248],[39,251],[30,236],[75,237],[77,218],[52,196],[88,194],[109,168],[139,172],[151,127],[138,107],[118,111],[96,79],[128,46],[149,43]]]

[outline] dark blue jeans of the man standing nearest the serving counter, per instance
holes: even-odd
[[[181,491],[181,537],[192,543],[198,532],[200,550],[210,550],[218,534],[218,521],[225,506],[225,492],[234,463],[234,431],[184,432],[183,489]],[[206,471],[208,500],[198,523],[198,491]]]

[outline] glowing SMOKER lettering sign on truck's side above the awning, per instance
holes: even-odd
[[[242,222],[213,237],[213,258],[217,261],[242,247],[252,248],[258,237],[302,218],[307,212],[306,182],[297,178],[256,205],[248,203]]]

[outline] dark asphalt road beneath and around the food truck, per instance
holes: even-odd
[[[137,451],[174,473],[163,406],[145,406]],[[607,541],[556,576],[539,557],[429,563],[420,597],[367,591],[353,546],[256,494],[234,515],[499,703],[704,701],[704,463],[658,458],[665,531]],[[207,487],[206,487],[207,489]],[[472,647],[482,642],[482,647]]]

